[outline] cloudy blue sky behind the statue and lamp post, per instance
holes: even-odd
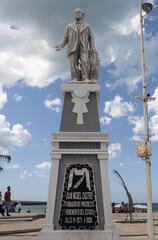
[[[158,99],[158,5],[144,21],[147,92]],[[61,84],[70,80],[66,47],[56,46],[73,11],[85,11],[101,66],[99,116],[109,135],[111,199],[127,201],[116,169],[134,202],[146,202],[145,162],[136,156],[143,141],[141,46],[138,0],[0,0],[0,191],[8,185],[12,199],[47,200],[51,132],[58,132],[62,113]],[[158,100],[149,103],[152,144],[153,202],[158,202]]]

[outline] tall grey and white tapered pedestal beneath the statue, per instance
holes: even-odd
[[[100,86],[62,86],[59,133],[52,133],[52,167],[39,240],[118,240],[112,220],[108,133],[100,132]]]

